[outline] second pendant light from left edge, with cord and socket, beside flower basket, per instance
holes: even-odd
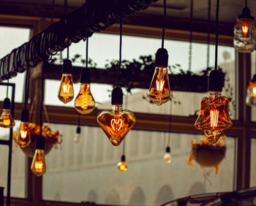
[[[26,148],[27,146],[30,145],[31,142],[31,135],[29,131],[29,110],[27,110],[28,98],[29,70],[26,71],[24,109],[21,112],[20,128],[18,130],[18,135],[16,137],[16,141],[21,148]]]

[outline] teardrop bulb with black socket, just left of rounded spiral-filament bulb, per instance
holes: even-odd
[[[74,98],[73,80],[71,75],[72,62],[69,59],[64,59],[62,67],[61,84],[59,86],[59,100],[64,104],[72,101]]]

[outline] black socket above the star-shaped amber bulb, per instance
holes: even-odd
[[[219,69],[211,71],[208,77],[208,91],[222,91],[224,86],[224,76]]]

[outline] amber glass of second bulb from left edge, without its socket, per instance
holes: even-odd
[[[20,129],[18,130],[18,135],[16,137],[16,141],[21,148],[26,148],[30,145],[31,137],[29,131],[29,123],[21,122]]]

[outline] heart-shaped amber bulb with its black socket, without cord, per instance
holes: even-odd
[[[123,92],[121,88],[112,91],[112,110],[99,112],[97,122],[110,142],[118,146],[130,129],[135,125],[135,115],[129,110],[122,110]]]

